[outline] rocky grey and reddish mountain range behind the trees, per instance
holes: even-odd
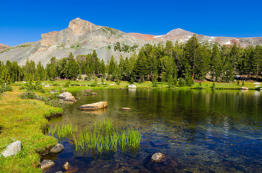
[[[140,49],[144,44],[158,44],[171,40],[173,42],[186,42],[194,33],[177,28],[164,35],[148,35],[140,33],[125,33],[117,29],[106,26],[95,25],[89,21],[76,18],[69,22],[66,29],[62,31],[53,31],[41,34],[41,40],[29,43],[23,43],[17,46],[6,46],[0,49],[0,61],[18,61],[18,64],[24,65],[26,59],[32,59],[36,63],[41,61],[45,66],[51,57],[58,59],[67,57],[70,52],[74,56],[92,53],[96,50],[100,59],[110,59],[112,55],[119,59],[120,54],[123,57],[131,56],[133,52],[114,51],[114,44],[118,41],[123,44],[133,46],[138,45]],[[199,42],[209,41],[211,44],[218,42],[223,45],[232,45],[234,42],[240,43],[242,47],[246,45],[262,44],[262,37],[255,38],[233,38],[233,37],[211,37],[198,35]],[[2,44],[0,44],[1,48]],[[110,46],[111,48],[109,48]],[[137,51],[138,52],[138,51]]]

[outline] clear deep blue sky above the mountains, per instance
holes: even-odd
[[[2,1],[0,43],[38,41],[77,17],[124,32],[262,37],[261,1]]]

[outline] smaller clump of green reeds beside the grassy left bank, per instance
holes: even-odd
[[[72,123],[62,124],[61,127],[56,124],[54,128],[48,127],[48,134],[51,136],[54,136],[54,134],[57,134],[58,138],[65,138],[68,134],[72,134],[73,132],[76,132],[77,126],[73,127]]]

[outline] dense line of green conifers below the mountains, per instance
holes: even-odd
[[[178,82],[177,79],[193,83],[193,80],[207,76],[211,81],[229,82],[236,74],[246,74],[248,78],[255,75],[258,80],[262,74],[262,46],[241,48],[236,42],[231,46],[210,44],[208,41],[199,43],[193,35],[187,43],[176,41],[173,44],[167,40],[165,46],[161,43],[145,44],[138,54],[134,52],[131,57],[125,58],[120,55],[119,61],[112,56],[105,63],[94,50],[76,57],[70,52],[68,57],[59,60],[52,57],[45,68],[40,61],[35,65],[29,59],[23,66],[17,61],[0,62],[0,73],[5,69],[11,81],[25,81],[29,75],[40,80],[55,80],[56,77],[75,80],[81,74],[87,76],[85,80],[103,76],[110,80],[150,80],[155,83]]]

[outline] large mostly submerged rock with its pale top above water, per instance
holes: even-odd
[[[154,153],[146,157],[144,160],[144,167],[154,172],[171,173],[174,170],[176,170],[177,165],[178,165],[177,160],[163,153]]]

